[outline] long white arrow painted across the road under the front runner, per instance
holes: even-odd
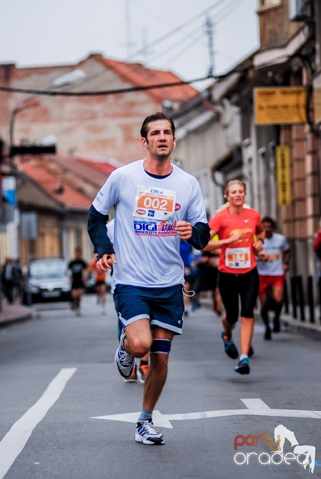
[[[271,409],[261,399],[241,399],[247,409],[222,409],[217,411],[204,411],[199,413],[161,414],[154,411],[153,423],[155,426],[173,429],[170,421],[185,421],[188,419],[221,418],[224,416],[267,416],[282,418],[310,418],[321,419],[321,411],[302,411],[296,409]],[[138,413],[113,414],[111,416],[98,416],[91,419],[105,419],[108,421],[124,421],[136,423]]]

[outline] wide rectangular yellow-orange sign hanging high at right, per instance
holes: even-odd
[[[306,123],[307,90],[303,86],[255,88],[254,108],[257,125]]]

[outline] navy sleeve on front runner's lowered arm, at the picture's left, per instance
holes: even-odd
[[[104,254],[115,254],[112,242],[107,235],[106,223],[108,220],[108,215],[102,215],[91,205],[88,213],[87,231],[98,253],[97,259],[100,259]]]

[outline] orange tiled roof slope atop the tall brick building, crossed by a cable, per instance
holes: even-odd
[[[141,63],[126,63],[124,61],[104,58],[101,55],[95,55],[95,57],[105,66],[116,71],[125,80],[131,82],[135,86],[159,85],[162,83],[175,83],[181,81],[181,78],[170,71],[146,68]],[[162,102],[163,100],[188,101],[199,94],[199,91],[195,90],[195,88],[189,84],[155,88],[146,90],[146,92],[159,102]]]

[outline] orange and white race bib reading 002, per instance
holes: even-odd
[[[138,186],[133,216],[169,220],[174,215],[175,202],[175,191]]]

